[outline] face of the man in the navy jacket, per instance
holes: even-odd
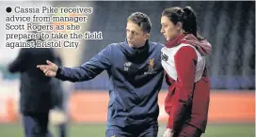
[[[143,30],[131,21],[128,21],[126,25],[126,38],[130,47],[141,47],[145,45],[146,40],[150,37],[149,33],[143,32]]]

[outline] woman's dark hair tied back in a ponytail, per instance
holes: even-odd
[[[162,16],[168,17],[168,19],[174,24],[179,22],[183,23],[184,33],[193,34],[200,40],[204,39],[198,32],[197,17],[192,8],[166,8],[163,11]]]

